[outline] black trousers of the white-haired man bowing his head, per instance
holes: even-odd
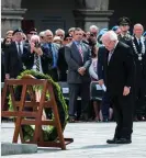
[[[134,101],[133,94],[113,95],[111,102],[113,105],[114,117],[116,122],[115,138],[128,138],[133,133],[133,109]]]

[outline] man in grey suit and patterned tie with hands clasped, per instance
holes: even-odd
[[[74,31],[74,41],[65,47],[65,58],[68,65],[67,81],[69,83],[69,121],[75,122],[77,98],[81,97],[81,119],[87,120],[90,100],[90,76],[88,68],[91,64],[90,47],[82,43],[82,30]]]

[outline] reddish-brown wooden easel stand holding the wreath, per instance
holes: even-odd
[[[22,86],[22,93],[21,93],[20,101],[15,101],[14,99],[14,86]],[[36,101],[36,95],[33,90],[33,86],[43,87],[40,102]],[[3,111],[4,100],[7,98],[8,90],[10,91],[10,94],[11,94],[12,104],[14,109],[13,112]],[[30,92],[31,101],[25,101],[26,91]],[[49,101],[45,101],[47,91],[49,92]],[[31,112],[23,111],[24,106],[33,108],[33,111]],[[66,149],[66,145],[74,142],[72,138],[64,138],[53,87],[52,87],[52,83],[49,83],[47,80],[38,80],[30,76],[24,77],[23,79],[5,80],[4,88],[2,91],[1,108],[2,108],[2,112],[1,112],[2,116],[15,117],[13,143],[18,143],[19,135],[21,137],[21,143],[36,144],[38,147],[59,147],[61,149]],[[54,113],[54,121],[53,120],[42,121],[44,108],[52,108],[53,113]],[[31,119],[27,120],[26,117],[31,117]],[[30,142],[24,140],[21,125],[35,125],[33,140],[30,140]],[[42,125],[56,126],[57,133],[58,133],[58,140],[44,142],[43,135],[42,135]]]

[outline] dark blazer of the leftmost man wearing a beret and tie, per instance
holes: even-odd
[[[15,42],[12,42],[11,45],[4,52],[4,69],[5,74],[10,75],[10,78],[16,78],[18,75],[20,75],[20,72],[23,71],[22,58],[18,53]]]

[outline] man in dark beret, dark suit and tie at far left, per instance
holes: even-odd
[[[25,44],[23,43],[22,30],[13,32],[14,42],[4,52],[5,79],[16,78],[23,71],[22,54]]]

